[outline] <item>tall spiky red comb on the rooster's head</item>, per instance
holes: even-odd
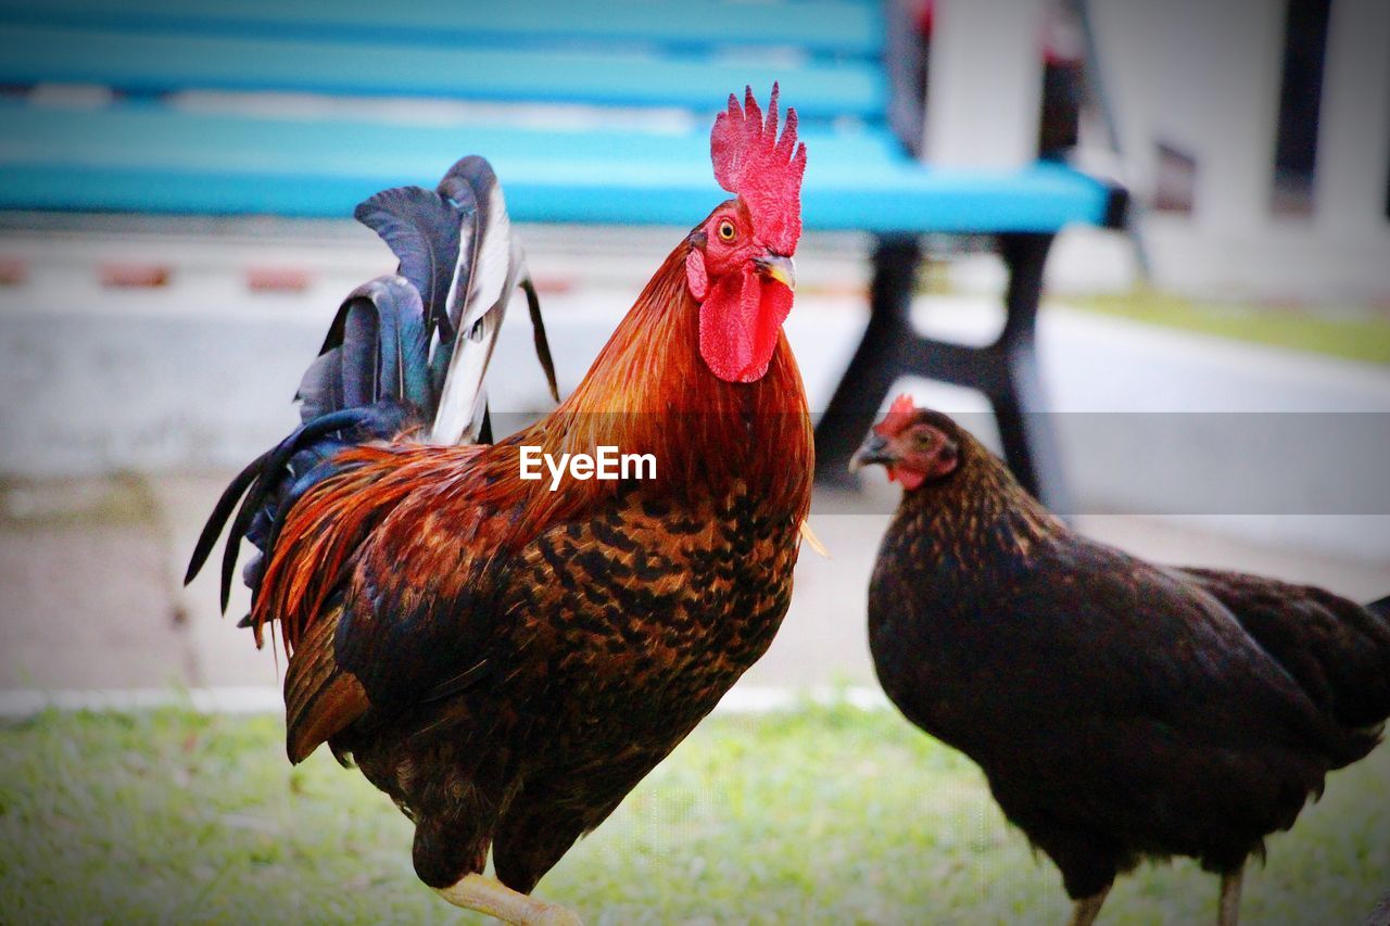
[[[806,145],[796,143],[796,110],[787,110],[787,127],[777,138],[777,85],[767,118],[744,90],[744,107],[728,95],[728,110],[714,118],[709,133],[714,179],[739,196],[753,217],[753,229],[769,249],[791,256],[801,238],[801,177],[806,172]]]

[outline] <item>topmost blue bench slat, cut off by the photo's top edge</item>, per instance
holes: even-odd
[[[870,57],[883,47],[876,3],[723,3],[720,0],[0,0],[0,19],[29,25],[208,35],[461,42],[655,42],[785,44],[817,54]]]

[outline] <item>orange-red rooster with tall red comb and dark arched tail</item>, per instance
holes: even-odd
[[[291,653],[291,762],[324,742],[354,761],[414,822],[420,879],[512,922],[574,920],[532,887],[714,708],[790,602],[813,466],[781,330],[806,147],[795,110],[778,136],[774,85],[766,117],[751,89],[730,96],[710,153],[734,197],[676,245],[569,399],[495,445],[456,444],[478,420],[478,364],[403,335],[420,281],[360,291],[306,375],[306,423],[228,488],[190,564],[249,489],[224,588],[245,533],[264,556],[249,623],[260,644],[279,622]],[[496,188],[486,202],[505,222]],[[434,256],[425,278],[449,275],[456,239],[431,231],[449,224],[406,222]],[[473,336],[467,317],[453,328]],[[346,373],[359,360],[368,373]],[[523,446],[603,445],[655,455],[655,478],[521,478]]]

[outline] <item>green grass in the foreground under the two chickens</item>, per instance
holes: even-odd
[[[0,730],[0,922],[456,922],[410,825],[356,772],[284,759],[272,717],[50,712]],[[1390,747],[1337,773],[1252,869],[1252,923],[1359,922],[1390,888]],[[1044,922],[1056,872],[973,765],[890,712],[706,722],[541,882],[589,923]],[[1209,922],[1191,863],[1102,922]]]

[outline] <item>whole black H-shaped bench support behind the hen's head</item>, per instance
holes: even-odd
[[[869,327],[824,417],[816,427],[816,476],[844,485],[849,456],[863,439],[894,381],[905,374],[984,392],[994,406],[1004,455],[1023,485],[1068,513],[1052,428],[1038,381],[1034,335],[1049,234],[997,236],[1009,268],[1005,323],[984,348],[924,338],[912,328],[912,292],[922,249],[916,238],[881,238],[873,254]]]

